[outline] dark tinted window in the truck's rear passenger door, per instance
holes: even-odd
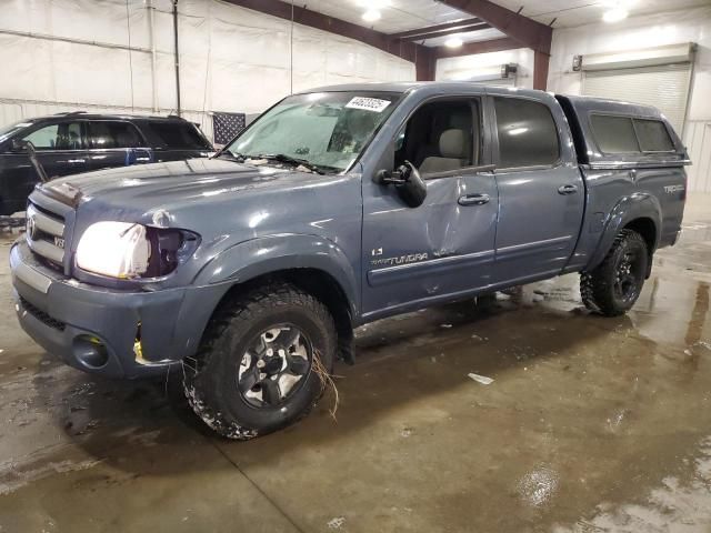
[[[533,167],[558,160],[558,131],[547,105],[518,98],[494,98],[494,105],[501,167]]]

